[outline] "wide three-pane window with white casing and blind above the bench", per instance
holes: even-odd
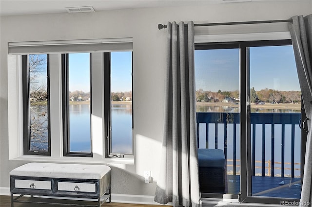
[[[9,43],[9,158],[133,158],[131,51],[132,38]]]

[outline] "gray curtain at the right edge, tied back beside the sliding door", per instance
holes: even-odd
[[[304,108],[309,120],[303,185],[300,206],[311,206],[312,200],[312,15],[292,17],[289,29],[296,60]]]

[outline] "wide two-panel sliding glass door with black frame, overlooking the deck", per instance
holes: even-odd
[[[305,114],[291,41],[195,44],[195,73],[199,148],[226,157],[227,188],[203,197],[298,201]]]

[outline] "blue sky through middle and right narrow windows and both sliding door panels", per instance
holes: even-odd
[[[69,58],[70,91],[89,92],[89,53]],[[132,90],[132,52],[111,52],[112,92]],[[196,90],[239,89],[239,49],[196,50]],[[295,77],[295,78],[294,78]],[[292,46],[250,48],[250,83],[255,90],[300,90]]]

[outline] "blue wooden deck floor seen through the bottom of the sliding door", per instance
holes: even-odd
[[[279,184],[284,181],[284,185]],[[226,193],[239,192],[239,176],[227,175]],[[254,196],[268,196],[281,198],[300,198],[301,180],[290,177],[262,177],[253,176],[252,190]]]

